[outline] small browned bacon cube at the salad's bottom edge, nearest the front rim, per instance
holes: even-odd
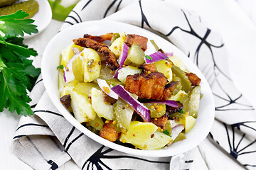
[[[110,123],[105,123],[103,128],[100,130],[100,137],[103,137],[106,140],[114,142],[119,139],[120,133],[116,131],[112,121]]]

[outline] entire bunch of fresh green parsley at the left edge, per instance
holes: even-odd
[[[38,33],[32,19],[24,19],[28,13],[17,11],[0,16],[0,112],[9,108],[18,115],[33,115],[28,102],[41,69],[32,65],[28,57],[36,57],[36,50],[23,44],[23,33]]]

